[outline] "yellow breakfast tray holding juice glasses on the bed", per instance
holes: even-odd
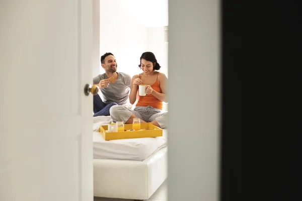
[[[125,130],[131,130],[132,124],[125,124]],[[139,131],[124,131],[124,132],[111,132],[107,133],[108,126],[100,126],[100,133],[105,140],[120,140],[120,139],[131,139],[131,138],[153,138],[162,137],[163,130],[150,123],[140,124],[140,129],[150,130],[139,130]]]

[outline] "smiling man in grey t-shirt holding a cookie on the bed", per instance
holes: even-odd
[[[105,73],[94,77],[93,83],[100,87],[104,102],[99,94],[93,96],[94,117],[110,116],[109,110],[112,106],[125,105],[129,100],[130,75],[123,72],[116,72],[116,59],[110,52],[101,56],[101,65]]]

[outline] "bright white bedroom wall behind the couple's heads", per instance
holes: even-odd
[[[138,68],[141,54],[151,51],[162,66],[160,71],[168,76],[168,44],[163,27],[168,20],[167,0],[153,2],[160,6],[157,9],[161,13],[159,16],[167,16],[162,21],[155,19],[153,22],[147,18],[147,13],[154,9],[139,7],[145,3],[148,1],[100,0],[100,54],[112,52],[117,59],[118,71],[133,76],[141,72]],[[156,25],[161,27],[150,27]],[[102,67],[100,73],[104,73]]]

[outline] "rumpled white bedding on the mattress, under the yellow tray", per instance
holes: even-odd
[[[167,146],[166,130],[163,130],[163,137],[105,141],[98,128],[100,125],[110,122],[110,116],[94,117],[93,119],[94,159],[143,161],[157,150]]]

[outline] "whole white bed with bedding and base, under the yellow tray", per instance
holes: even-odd
[[[148,199],[168,177],[167,130],[159,138],[105,141],[98,128],[110,117],[93,121],[94,196]]]

